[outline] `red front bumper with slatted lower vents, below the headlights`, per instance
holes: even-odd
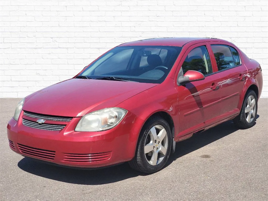
[[[75,132],[80,118],[73,118],[64,129],[48,131],[8,122],[11,150],[16,153],[63,166],[99,168],[130,161],[144,123],[131,112],[114,128],[99,132]]]

